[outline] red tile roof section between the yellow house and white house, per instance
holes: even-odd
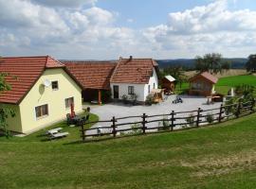
[[[114,61],[64,62],[68,72],[80,81],[84,89],[110,89],[110,77],[117,65]]]

